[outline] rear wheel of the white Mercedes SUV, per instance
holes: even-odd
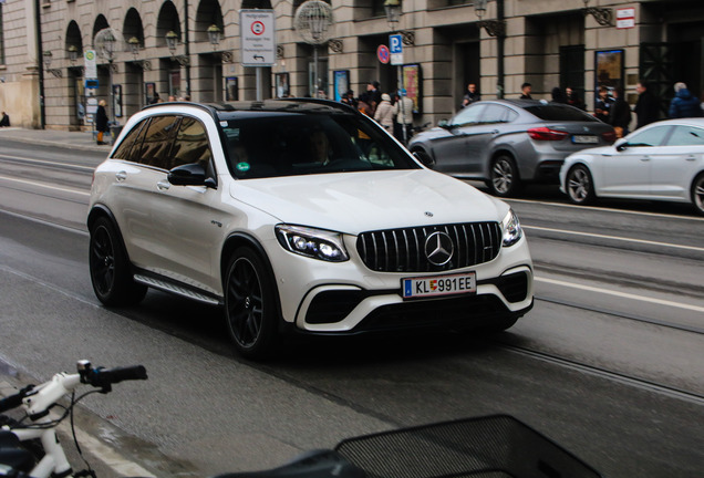
[[[133,305],[146,295],[146,285],[136,283],[132,277],[130,259],[115,226],[105,217],[91,227],[89,266],[95,297],[105,305]]]

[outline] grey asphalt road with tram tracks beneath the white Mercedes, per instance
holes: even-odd
[[[159,292],[99,304],[83,221],[100,157],[0,142],[0,358],[17,382],[77,358],[143,363],[148,382],[85,399],[85,427],[155,475],[268,468],[349,436],[505,413],[608,477],[702,476],[704,220],[689,209],[574,208],[532,188],[510,202],[536,304],[508,332],[297,339],[256,364],[217,309]]]

